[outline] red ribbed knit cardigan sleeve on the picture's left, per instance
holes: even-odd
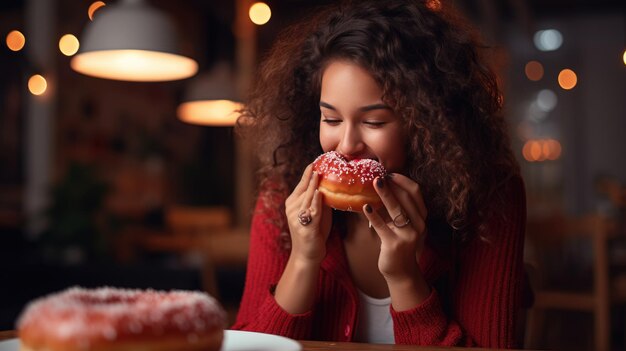
[[[279,214],[269,212],[275,207],[265,206],[262,197],[257,201],[250,232],[244,293],[237,320],[231,329],[309,339],[312,313],[289,314],[273,296],[273,289],[288,258],[288,253],[278,244],[280,229],[276,219]]]

